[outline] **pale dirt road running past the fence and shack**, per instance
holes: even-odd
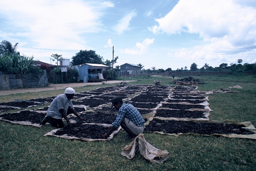
[[[104,82],[105,84],[112,84],[112,83],[120,83],[122,81],[107,81]],[[126,81],[130,82],[130,81]],[[80,87],[86,85],[100,85],[102,82],[98,83],[68,83],[68,84],[50,84],[47,87],[36,87],[36,88],[14,88],[14,89],[1,89],[1,95],[9,95],[9,94],[16,94],[16,93],[24,93],[24,92],[40,92],[40,91],[47,91],[47,90],[58,90],[67,87]]]

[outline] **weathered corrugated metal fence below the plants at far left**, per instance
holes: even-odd
[[[48,86],[46,71],[39,74],[8,74],[0,72],[0,89]]]

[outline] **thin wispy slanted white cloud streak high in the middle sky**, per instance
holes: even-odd
[[[132,20],[133,17],[135,17],[137,15],[136,12],[130,12],[129,14],[127,14],[126,16],[124,16],[124,18],[122,18],[119,23],[114,26],[114,30],[118,33],[118,34],[122,34],[123,31],[129,29],[128,26],[130,25],[130,20]]]

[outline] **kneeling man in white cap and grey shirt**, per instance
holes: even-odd
[[[56,128],[64,127],[62,118],[65,118],[67,121],[68,126],[71,126],[70,121],[67,115],[73,113],[76,115],[80,120],[86,122],[84,118],[81,118],[76,110],[73,107],[71,99],[74,97],[75,90],[71,87],[66,88],[64,94],[58,95],[52,101],[50,107],[47,110],[47,115],[40,121],[40,125],[46,124],[49,122],[52,126]]]

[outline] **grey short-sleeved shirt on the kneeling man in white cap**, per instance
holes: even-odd
[[[47,110],[46,116],[50,116],[55,119],[62,119],[62,114],[59,110],[64,109],[64,112],[67,114],[69,107],[73,108],[72,101],[68,100],[65,93],[60,94],[52,101],[50,107]]]

